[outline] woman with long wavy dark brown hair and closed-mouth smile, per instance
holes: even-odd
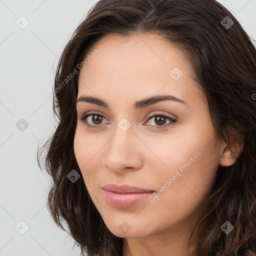
[[[256,255],[255,93],[255,47],[215,0],[98,1],[38,151],[54,221],[89,256]]]

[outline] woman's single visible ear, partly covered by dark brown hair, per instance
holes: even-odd
[[[229,135],[230,148],[226,142],[222,141],[222,146],[220,147],[222,153],[220,154],[219,164],[221,166],[230,166],[235,163],[239,156],[240,151],[243,148],[243,138],[240,134],[233,133]]]

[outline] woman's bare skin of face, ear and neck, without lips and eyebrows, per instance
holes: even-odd
[[[218,166],[231,165],[235,158],[215,136],[205,95],[192,78],[184,52],[149,33],[106,35],[88,54],[95,48],[99,52],[80,70],[77,98],[101,98],[110,110],[89,102],[76,104],[73,145],[86,188],[108,229],[125,238],[124,256],[185,255],[198,207],[208,195]],[[178,80],[169,75],[174,67],[183,73]],[[159,94],[171,94],[187,104],[164,100],[142,109],[132,106]],[[105,117],[98,122],[91,118],[94,115],[86,119],[100,128],[87,127],[79,120],[89,111]],[[159,113],[177,121],[170,124],[165,118],[162,123],[170,125],[154,128],[161,126],[157,116],[149,121],[147,117]],[[123,118],[131,124],[126,131],[118,126]],[[101,187],[109,183],[159,190],[197,151],[200,156],[153,202],[146,199],[120,208],[106,201]],[[118,228],[123,221],[130,226],[126,233]]]

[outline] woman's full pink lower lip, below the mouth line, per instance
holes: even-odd
[[[146,199],[154,192],[120,194],[103,189],[108,203],[115,207],[131,207]]]

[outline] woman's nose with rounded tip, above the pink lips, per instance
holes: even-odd
[[[117,128],[105,148],[102,164],[116,174],[121,174],[124,170],[134,171],[141,168],[141,141],[131,128],[127,131]]]

